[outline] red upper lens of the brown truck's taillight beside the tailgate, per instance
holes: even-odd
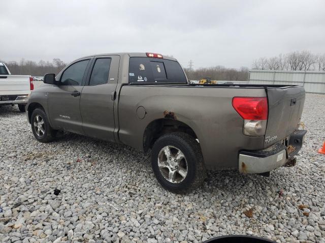
[[[234,97],[233,107],[246,120],[266,120],[268,118],[266,97]]]

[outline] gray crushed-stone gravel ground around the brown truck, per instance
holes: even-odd
[[[325,155],[316,152],[324,104],[325,95],[307,94],[296,167],[269,178],[209,172],[187,195],[158,185],[148,155],[73,134],[42,144],[25,114],[1,107],[0,242],[185,243],[227,234],[325,242]]]

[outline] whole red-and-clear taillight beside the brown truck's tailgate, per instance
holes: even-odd
[[[244,119],[245,135],[265,135],[269,111],[266,97],[234,97],[233,107]]]

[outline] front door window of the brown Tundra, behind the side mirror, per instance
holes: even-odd
[[[76,62],[64,70],[60,85],[62,86],[81,86],[82,78],[85,74],[89,60]]]

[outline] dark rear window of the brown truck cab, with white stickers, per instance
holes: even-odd
[[[131,57],[128,83],[186,83],[178,62],[150,57]]]

